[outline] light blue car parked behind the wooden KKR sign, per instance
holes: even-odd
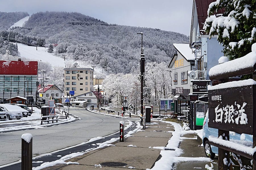
[[[209,136],[218,137],[218,129],[208,127],[208,111],[205,115],[205,120],[203,123],[203,145],[205,148],[205,154],[207,155],[207,150],[210,151],[210,158],[213,159],[215,154],[218,154],[218,147],[209,144]],[[239,134],[233,131],[229,131],[229,140],[234,143],[239,143],[245,146],[253,146],[253,136],[248,134]]]

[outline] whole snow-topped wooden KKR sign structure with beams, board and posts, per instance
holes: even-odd
[[[256,170],[255,70],[256,48],[244,57],[221,63],[209,71],[213,86],[208,86],[208,127],[218,129],[218,138],[209,137],[209,143],[219,148],[218,169],[231,168],[229,152],[233,152],[252,159]],[[248,74],[252,74],[252,79],[230,82],[230,77]],[[229,141],[229,131],[253,135],[253,148]]]

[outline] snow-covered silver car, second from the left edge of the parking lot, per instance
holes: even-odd
[[[17,105],[0,104],[0,108],[6,112],[7,120],[21,119],[22,116],[28,116],[28,111]]]

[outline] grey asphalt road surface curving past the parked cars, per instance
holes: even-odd
[[[21,131],[0,133],[0,166],[21,159],[21,135],[33,135],[33,156],[103,137],[119,130],[120,118],[94,114],[84,109],[70,109],[80,121]]]

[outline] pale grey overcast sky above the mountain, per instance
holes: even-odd
[[[0,0],[1,12],[80,12],[109,24],[189,35],[193,0]]]

